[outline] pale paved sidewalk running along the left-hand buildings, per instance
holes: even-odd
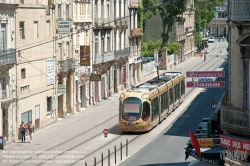
[[[215,48],[216,48],[216,44],[214,46],[210,46],[209,53],[212,53],[212,51]],[[181,64],[178,64],[176,69],[172,69],[168,71],[185,72],[190,67],[200,64],[201,61],[202,61],[201,59],[197,59],[193,57]],[[166,70],[160,71],[160,73],[163,73],[163,72],[166,72]],[[147,81],[147,79],[151,79],[156,76],[157,76],[157,73],[154,73],[151,75],[151,77],[143,79],[143,81]],[[197,92],[199,90],[200,89],[197,89]],[[95,106],[86,108],[79,113],[68,116],[64,120],[61,120],[42,130],[37,131],[34,134],[34,141],[32,144],[30,143],[29,137],[26,137],[26,143],[20,143],[21,141],[18,141],[15,143],[8,144],[5,151],[2,151],[2,150],[0,151],[0,160],[3,161],[3,159],[5,159],[3,155],[5,155],[6,152],[27,152],[28,153],[29,151],[38,152],[38,151],[48,151],[48,150],[50,151],[50,150],[55,150],[55,149],[56,150],[68,150],[74,147],[74,145],[79,145],[81,143],[88,141],[96,133],[102,134],[102,130],[104,128],[112,129],[112,132],[113,132],[112,136],[120,135],[120,131],[117,128],[117,122],[118,122],[117,108],[119,107],[119,102],[118,102],[119,96],[120,94],[116,93],[113,97],[110,97],[107,100],[103,100],[102,102],[97,103],[97,105]],[[187,101],[188,100],[189,99],[187,99]],[[114,127],[114,124],[115,124],[115,127]],[[154,130],[154,132],[156,132],[157,130]],[[154,132],[152,132],[152,134]],[[87,133],[87,134],[85,135],[84,133]],[[153,135],[155,136],[155,134]],[[93,143],[93,145],[92,143],[91,145],[88,144],[88,147],[83,147],[82,149],[86,150],[87,152],[92,152],[93,150],[92,148],[94,146],[98,146],[98,143],[100,141],[103,142],[105,140],[112,139],[112,137],[109,137],[108,139],[104,139],[103,137],[101,138],[96,137],[96,139],[97,140],[95,141],[95,143]],[[72,140],[72,141],[68,141],[68,140]],[[58,147],[55,148],[55,145],[58,145],[58,144],[63,145],[63,146],[60,148]],[[99,152],[98,152],[98,155],[100,155]]]

